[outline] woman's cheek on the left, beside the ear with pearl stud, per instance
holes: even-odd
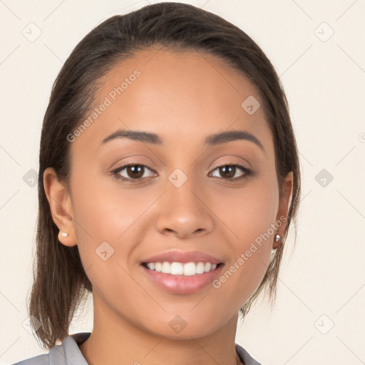
[[[111,179],[111,178],[110,178]],[[145,209],[133,199],[132,190],[118,189],[106,178],[75,176],[73,214],[81,262],[93,289],[110,305],[123,307],[115,293],[132,287],[135,282],[125,272],[138,229],[137,218]],[[133,286],[134,285],[134,286]]]

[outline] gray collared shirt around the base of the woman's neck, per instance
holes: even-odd
[[[72,334],[65,337],[61,345],[53,346],[48,354],[34,356],[13,365],[88,365],[78,345],[86,341],[90,335],[91,332]],[[235,344],[235,348],[245,365],[260,365],[239,344]]]

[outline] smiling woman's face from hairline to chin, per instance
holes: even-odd
[[[279,200],[262,101],[200,53],[143,51],[102,81],[97,110],[69,138],[74,231],[63,244],[78,245],[96,316],[161,336],[210,334],[255,292],[284,231],[290,191]],[[148,269],[156,262],[175,264]]]

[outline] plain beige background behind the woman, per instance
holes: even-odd
[[[297,245],[292,235],[274,309],[257,305],[237,342],[262,364],[364,364],[365,1],[183,2],[224,17],[262,47],[287,93],[301,153]],[[41,354],[23,323],[38,204],[29,170],[38,170],[51,84],[96,24],[143,4],[0,1],[0,364]],[[31,22],[41,30],[32,42],[22,34]],[[317,183],[322,169],[334,178],[326,186]],[[90,305],[71,333],[91,326]]]

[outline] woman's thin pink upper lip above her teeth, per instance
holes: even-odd
[[[222,261],[200,251],[168,251],[143,259],[142,262],[210,262],[220,264]]]

